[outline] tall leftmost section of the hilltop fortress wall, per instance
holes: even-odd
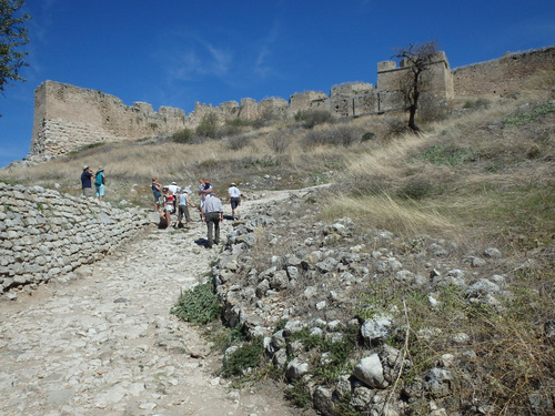
[[[185,112],[169,106],[124,105],[117,97],[54,81],[34,93],[31,155],[54,156],[97,142],[172,132],[186,125]]]

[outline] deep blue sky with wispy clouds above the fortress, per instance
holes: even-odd
[[[555,45],[553,0],[27,0],[27,82],[0,95],[0,166],[30,149],[46,80],[127,105],[189,114],[195,102],[375,84],[395,48],[435,40],[452,68]]]

